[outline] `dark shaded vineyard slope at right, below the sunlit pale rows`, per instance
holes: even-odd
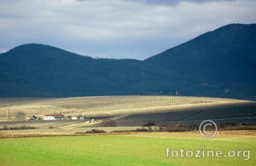
[[[230,123],[256,124],[256,105],[242,105],[226,108],[210,108],[194,111],[132,114],[119,119],[104,121],[95,127],[155,125],[200,125],[204,120],[214,120],[217,125]]]

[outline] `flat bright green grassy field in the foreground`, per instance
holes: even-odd
[[[171,150],[250,150],[250,160],[240,158],[166,158]],[[241,154],[242,155],[242,154]],[[108,136],[55,136],[1,138],[0,165],[216,165],[255,166],[256,136],[217,135],[205,139],[189,133],[140,133]]]

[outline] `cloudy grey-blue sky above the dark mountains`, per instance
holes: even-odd
[[[41,43],[143,60],[231,23],[256,23],[256,0],[0,0],[0,53]]]

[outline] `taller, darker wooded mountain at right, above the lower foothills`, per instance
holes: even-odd
[[[256,83],[256,24],[230,24],[145,60],[216,81]]]

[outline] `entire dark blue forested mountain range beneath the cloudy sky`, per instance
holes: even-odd
[[[0,97],[182,95],[256,100],[256,24],[232,24],[144,61],[24,44],[0,54]]]

